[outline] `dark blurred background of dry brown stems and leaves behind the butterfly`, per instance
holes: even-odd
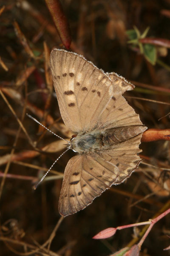
[[[144,125],[170,128],[170,0],[61,3],[71,31],[70,50],[136,85],[124,96]],[[0,1],[0,255],[110,255],[134,237],[140,239],[142,228],[121,230],[101,241],[92,239],[96,233],[147,221],[170,208],[170,144],[142,143],[139,169],[85,210],[62,220],[50,252],[40,248],[61,221],[62,173],[75,155],[68,151],[53,168],[59,174],[51,172],[51,180],[33,190],[64,145],[25,114],[62,137],[71,136],[51,81],[48,57],[53,47],[64,48],[45,1]],[[168,235],[167,215],[151,230],[140,255],[169,255],[163,251],[170,245]]]

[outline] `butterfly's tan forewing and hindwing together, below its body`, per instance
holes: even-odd
[[[65,168],[59,213],[67,216],[87,207],[111,185],[120,184],[138,167],[142,134],[119,147],[72,157]]]

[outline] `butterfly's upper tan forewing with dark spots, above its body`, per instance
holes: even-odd
[[[50,65],[65,125],[74,132],[94,129],[113,96],[111,79],[84,57],[65,50],[54,49]]]

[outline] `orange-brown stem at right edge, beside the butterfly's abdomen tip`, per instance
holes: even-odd
[[[149,129],[144,131],[141,142],[150,142],[159,139],[170,140],[170,129]]]

